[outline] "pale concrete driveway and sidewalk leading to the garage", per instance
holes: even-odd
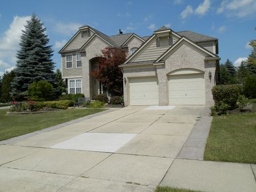
[[[0,145],[0,191],[154,191],[157,185],[219,191],[190,183],[196,167],[201,180],[214,183],[207,175],[215,166],[220,186],[227,174],[239,175],[221,191],[254,191],[247,165],[177,158],[202,116],[202,106],[125,107]],[[221,175],[223,169],[232,171]]]

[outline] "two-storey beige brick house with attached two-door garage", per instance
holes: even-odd
[[[212,105],[216,84],[218,39],[161,27],[151,36],[107,36],[82,26],[60,50],[62,78],[68,93],[94,98],[104,93],[91,77],[106,46],[123,49],[127,60],[119,67],[124,74],[125,105]]]

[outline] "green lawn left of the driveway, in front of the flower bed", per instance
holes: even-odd
[[[69,109],[43,114],[6,115],[8,109],[0,110],[0,141],[22,134],[42,130],[79,117],[106,109]]]

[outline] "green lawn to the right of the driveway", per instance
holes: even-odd
[[[256,164],[256,113],[213,117],[204,160]]]

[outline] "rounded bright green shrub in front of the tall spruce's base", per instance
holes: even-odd
[[[46,81],[34,82],[28,86],[27,95],[31,100],[35,101],[47,101],[53,97],[53,86]]]

